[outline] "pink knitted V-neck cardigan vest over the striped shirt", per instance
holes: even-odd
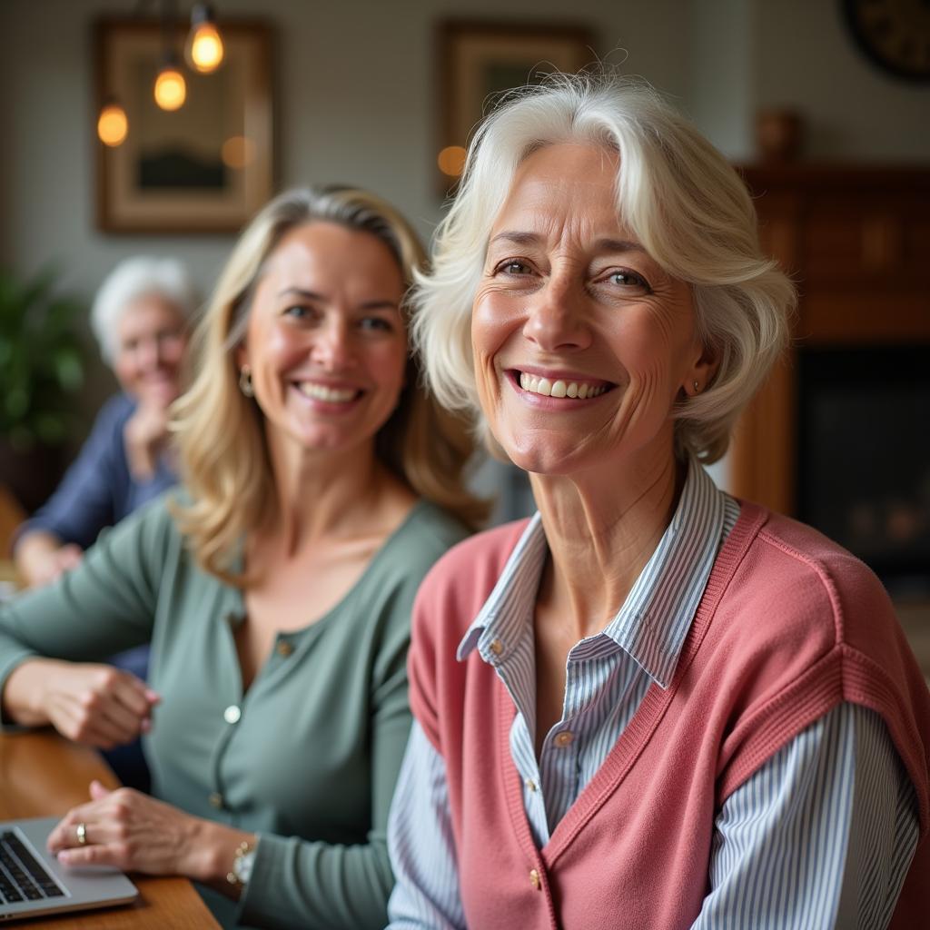
[[[930,693],[868,568],[815,530],[744,504],[668,690],[652,684],[537,850],[508,737],[515,709],[458,643],[525,523],[472,537],[420,589],[410,700],[443,756],[465,916],[481,930],[683,930],[708,893],[726,797],[842,701],[878,711],[916,789],[921,839],[891,923],[930,914]]]

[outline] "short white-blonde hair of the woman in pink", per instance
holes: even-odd
[[[715,461],[786,343],[794,289],[762,254],[737,172],[655,90],[627,79],[554,75],[512,91],[479,127],[436,231],[432,271],[417,275],[412,298],[432,391],[486,433],[470,332],[487,241],[517,168],[561,142],[618,153],[618,216],[665,272],[691,286],[698,334],[718,366],[704,392],[676,405],[675,450]]]

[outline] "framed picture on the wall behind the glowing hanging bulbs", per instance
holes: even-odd
[[[118,145],[95,140],[97,219],[108,233],[234,233],[272,193],[271,36],[219,21],[224,57],[208,74],[183,59],[187,23],[99,20],[97,110],[126,113]],[[183,103],[159,107],[155,78],[172,53]]]

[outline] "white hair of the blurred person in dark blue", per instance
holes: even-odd
[[[198,303],[196,288],[178,259],[147,255],[124,259],[100,285],[90,309],[90,326],[108,365],[113,365],[119,348],[116,336],[123,314],[136,300],[152,296],[176,307],[183,320],[190,320]]]

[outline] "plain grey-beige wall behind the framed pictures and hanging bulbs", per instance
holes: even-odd
[[[181,7],[190,6],[182,2]],[[433,30],[444,16],[500,18],[498,0],[219,0],[222,15],[275,31],[279,186],[352,181],[391,198],[424,236],[433,188]],[[208,288],[232,239],[106,236],[93,227],[90,22],[134,0],[0,2],[0,260],[31,272],[54,259],[90,297],[119,259],[177,253]],[[573,20],[596,51],[643,75],[736,159],[751,156],[752,113],[807,115],[820,158],[930,161],[930,91],[866,62],[834,0],[511,0],[508,20]],[[467,12],[464,12],[466,11]],[[110,389],[94,381],[90,400]]]

